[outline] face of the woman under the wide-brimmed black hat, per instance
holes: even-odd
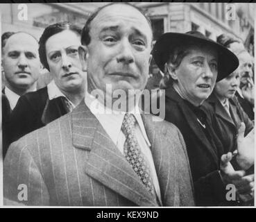
[[[214,89],[218,74],[218,57],[212,47],[191,46],[179,67],[173,69],[172,78],[184,99],[200,105]]]

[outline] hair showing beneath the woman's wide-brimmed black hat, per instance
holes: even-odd
[[[164,67],[164,77],[160,80],[160,89],[167,89],[173,84],[173,78],[169,74],[167,67],[171,69],[176,69],[180,66],[183,58],[189,53],[189,44],[183,46],[177,46],[176,48],[169,51],[168,62]]]

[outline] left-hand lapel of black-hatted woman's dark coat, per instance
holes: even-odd
[[[165,94],[166,94],[167,98],[178,103],[180,111],[182,112],[183,117],[185,118],[184,122],[187,122],[187,124],[189,125],[189,128],[191,128],[191,131],[194,132],[196,137],[203,144],[203,147],[207,148],[207,151],[212,155],[216,164],[219,165],[219,163],[218,163],[219,158],[218,158],[218,154],[217,154],[218,151],[216,150],[216,147],[215,146],[213,147],[212,144],[210,144],[210,142],[208,141],[207,137],[205,136],[205,133],[203,132],[201,126],[198,124],[198,121],[196,120],[196,118],[191,118],[191,117],[195,116],[194,112],[192,112],[188,108],[187,104],[185,104],[184,99],[182,99],[180,97],[180,95],[176,92],[176,90],[173,87],[169,87],[166,90]]]

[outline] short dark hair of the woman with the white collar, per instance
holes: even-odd
[[[44,68],[49,70],[49,65],[47,62],[47,57],[46,57],[46,41],[49,39],[49,37],[56,35],[57,33],[61,33],[62,31],[65,30],[70,30],[73,31],[74,33],[81,35],[81,28],[78,26],[75,26],[73,24],[70,24],[69,22],[59,22],[56,24],[52,24],[51,26],[48,26],[44,29],[44,33],[42,33],[42,36],[40,37],[39,40],[39,56],[40,56],[40,61]],[[50,71],[50,70],[49,70]]]

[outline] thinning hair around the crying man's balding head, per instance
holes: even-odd
[[[137,9],[139,12],[141,12],[141,14],[145,17],[146,21],[148,22],[149,27],[151,28],[152,31],[152,26],[151,26],[151,20],[149,19],[149,17],[144,13],[144,11],[141,8],[138,8],[137,6],[134,6],[130,3],[110,3],[108,5],[102,6],[100,8],[97,8],[94,12],[92,12],[92,15],[89,16],[89,18],[87,19],[87,22],[85,23],[85,26],[83,27],[83,31],[82,31],[82,36],[81,36],[81,43],[83,45],[88,45],[91,42],[91,37],[89,36],[89,31],[91,29],[91,23],[92,21],[95,19],[95,17],[99,14],[99,12],[101,12],[101,10],[103,10],[104,8],[107,8],[108,6],[113,6],[113,5],[117,5],[117,4],[123,4],[126,6],[130,6],[132,8]]]

